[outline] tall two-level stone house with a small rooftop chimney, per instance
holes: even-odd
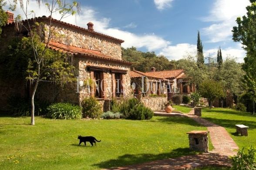
[[[11,16],[13,13],[9,15],[10,18],[13,17]],[[123,40],[95,32],[94,24],[91,22],[87,24],[88,29],[85,29],[46,16],[29,20],[30,24],[33,25],[34,20],[44,23],[42,25],[44,35],[49,33],[51,22],[52,28],[55,27],[55,33],[48,44],[49,48],[71,54],[77,69],[75,87],[62,90],[56,85],[52,88],[49,83],[40,83],[42,86],[38,89],[37,96],[54,102],[69,101],[77,104],[86,97],[94,96],[104,106],[104,110],[108,110],[111,98],[126,97],[131,94],[130,66],[132,63],[121,59]],[[23,22],[26,25],[26,22]],[[13,21],[2,29],[1,44],[7,44],[14,37],[28,36],[27,29],[17,32]],[[47,36],[45,39],[47,40]],[[4,50],[6,46],[0,48]],[[88,84],[91,81],[93,83]],[[11,95],[29,96],[31,93],[30,85],[26,81],[10,85],[10,80],[1,80],[0,89],[2,89],[0,90],[1,108],[4,108],[7,98]]]

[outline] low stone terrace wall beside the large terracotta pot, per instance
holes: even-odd
[[[141,102],[152,110],[162,110],[167,103],[167,97],[144,97]]]

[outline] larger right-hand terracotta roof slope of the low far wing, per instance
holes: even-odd
[[[163,70],[163,71],[155,71],[155,72],[146,72],[147,75],[158,76],[162,78],[177,78],[182,73],[184,74],[185,70]]]

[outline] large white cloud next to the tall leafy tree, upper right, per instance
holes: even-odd
[[[212,25],[202,29],[202,35],[209,37],[208,42],[232,41],[232,27],[236,26],[236,18],[246,14],[249,0],[216,0],[210,15],[203,18]]]

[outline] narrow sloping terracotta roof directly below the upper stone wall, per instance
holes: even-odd
[[[125,65],[132,65],[132,62],[123,61],[120,59],[115,59],[112,56],[106,56],[102,54],[100,51],[94,51],[90,49],[82,49],[79,47],[74,46],[67,46],[65,44],[57,43],[57,42],[49,42],[48,43],[49,48],[54,50],[60,50],[62,52],[67,52],[70,54],[80,55],[80,56],[89,56],[95,59],[101,59],[101,60],[109,60],[109,62],[118,62]]]

